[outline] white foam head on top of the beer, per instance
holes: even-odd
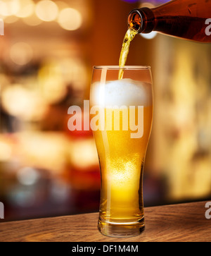
[[[108,106],[150,106],[152,104],[151,84],[129,78],[96,82],[91,85],[91,105]]]

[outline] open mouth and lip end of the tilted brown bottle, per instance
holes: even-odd
[[[128,25],[138,33],[150,33],[155,27],[155,16],[150,8],[137,8],[128,16]]]

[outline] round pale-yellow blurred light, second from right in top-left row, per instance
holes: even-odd
[[[37,3],[35,13],[40,20],[53,21],[58,16],[58,6],[50,0],[41,0]]]

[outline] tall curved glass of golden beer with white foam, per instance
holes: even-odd
[[[106,236],[136,236],[145,228],[143,164],[153,119],[151,68],[94,66],[91,129],[101,168],[98,230]]]

